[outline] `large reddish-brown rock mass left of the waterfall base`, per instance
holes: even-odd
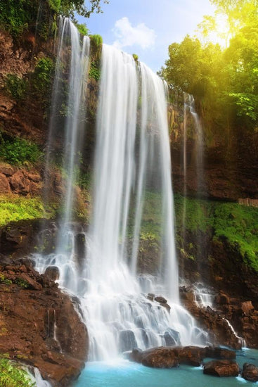
[[[1,257],[0,311],[0,357],[37,367],[52,386],[77,379],[87,357],[86,327],[70,297],[29,260]]]

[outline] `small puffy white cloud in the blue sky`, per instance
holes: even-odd
[[[140,46],[142,49],[148,49],[155,44],[155,31],[150,30],[144,23],[133,27],[128,18],[121,18],[115,22],[113,29],[117,38],[113,46],[117,49],[130,46]]]

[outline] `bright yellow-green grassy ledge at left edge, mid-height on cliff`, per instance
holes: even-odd
[[[42,199],[19,196],[0,196],[0,226],[18,220],[38,219],[45,216]],[[48,217],[53,216],[53,210]]]

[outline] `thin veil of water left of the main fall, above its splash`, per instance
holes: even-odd
[[[62,224],[72,218],[74,202],[75,173],[79,165],[80,142],[85,126],[86,84],[89,70],[90,39],[81,39],[77,27],[68,18],[59,18],[56,70],[51,101],[49,139],[46,149],[45,185],[48,186],[50,165],[55,160],[56,139],[63,132],[63,179],[65,195],[63,197],[64,215]],[[65,120],[60,121],[60,115]],[[61,126],[61,127],[60,127]],[[46,203],[49,191],[46,190]],[[60,235],[67,237],[67,233]],[[60,238],[60,251],[67,239]]]

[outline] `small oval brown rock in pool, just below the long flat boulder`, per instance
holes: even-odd
[[[203,373],[212,376],[238,376],[239,365],[231,360],[212,360],[204,364]]]

